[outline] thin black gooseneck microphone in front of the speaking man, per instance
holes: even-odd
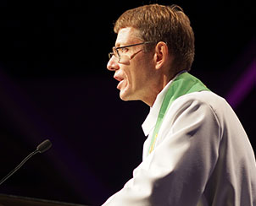
[[[4,177],[3,177],[3,179],[0,181],[0,185],[2,185],[2,183],[5,182],[5,181],[8,179],[8,177],[12,176],[15,171],[18,171],[19,168],[20,168],[22,165],[24,165],[25,162],[26,162],[27,160],[29,160],[32,156],[36,155],[37,153],[44,153],[44,152],[46,152],[48,149],[50,149],[51,147],[52,147],[52,143],[50,142],[50,140],[49,140],[49,139],[44,140],[41,144],[39,144],[39,145],[36,147],[36,150],[33,151],[33,152],[32,152],[30,155],[28,155],[27,157],[25,157],[25,159],[22,160],[22,161],[19,163],[19,165],[14,168],[13,171],[10,171],[7,176],[4,176]]]

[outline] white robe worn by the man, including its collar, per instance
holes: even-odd
[[[153,152],[153,128],[171,81],[142,124],[143,160],[103,206],[255,206],[256,163],[231,106],[211,91],[177,98],[164,116]]]

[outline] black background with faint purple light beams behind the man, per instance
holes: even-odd
[[[114,21],[147,3],[185,10],[196,36],[192,74],[231,103],[256,150],[252,3],[2,0],[0,176],[45,138],[53,148],[29,160],[0,193],[99,205],[131,178],[142,161],[148,107],[119,99],[106,64]]]

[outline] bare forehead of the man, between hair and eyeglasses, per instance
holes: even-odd
[[[119,30],[115,46],[124,46],[127,44],[134,44],[136,41],[141,40],[139,37],[139,30],[133,27],[125,27]]]

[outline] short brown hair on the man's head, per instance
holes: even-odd
[[[189,71],[194,59],[194,33],[190,20],[177,5],[150,4],[127,10],[114,24],[114,32],[125,27],[140,30],[144,41],[164,41],[175,57],[173,69]]]

